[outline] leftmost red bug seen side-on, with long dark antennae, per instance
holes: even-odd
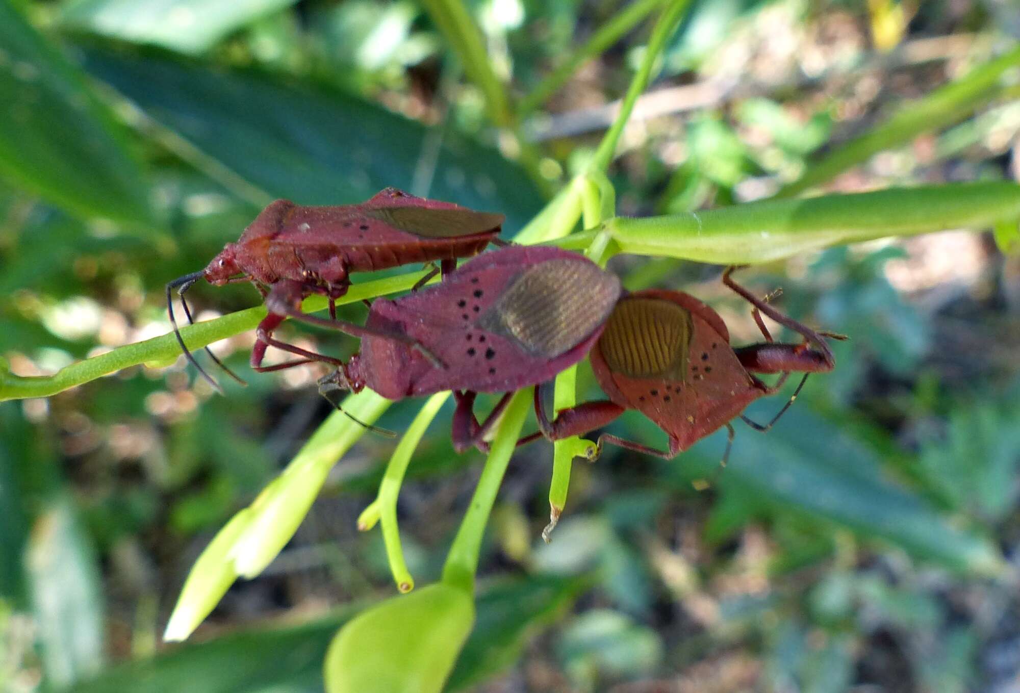
[[[199,279],[222,285],[251,281],[265,299],[269,314],[259,323],[258,339],[252,350],[251,365],[256,371],[270,371],[337,359],[279,341],[272,331],[288,316],[310,319],[301,312],[301,302],[313,294],[329,299],[330,326],[357,336],[374,333],[370,328],[336,320],[334,302],[347,292],[351,272],[367,272],[413,262],[441,261],[445,271],[457,258],[480,253],[497,235],[502,214],[475,212],[436,200],[417,198],[388,188],[359,205],[303,207],[277,200],[266,207],[245,229],[237,243],[223,250],[200,272],[178,277],[166,284],[166,304],[177,341],[188,360],[218,389],[216,382],[195,361],[185,346],[173,317],[170,291],[177,289],[188,321],[191,312],[184,294]],[[302,357],[275,366],[263,367],[268,345]],[[206,348],[213,361],[222,363]],[[224,367],[224,370],[225,367]],[[240,381],[238,376],[230,373]]]

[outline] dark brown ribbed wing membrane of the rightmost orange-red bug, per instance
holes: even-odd
[[[629,299],[609,317],[599,350],[615,373],[682,382],[691,333],[691,313],[680,306],[660,299]]]

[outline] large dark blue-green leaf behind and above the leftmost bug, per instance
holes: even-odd
[[[201,152],[182,148],[182,156],[261,204],[274,197],[360,202],[387,185],[426,192],[411,190],[425,128],[374,104],[155,56],[87,55],[90,71]],[[427,195],[504,212],[508,228],[525,222],[541,203],[516,164],[452,135],[444,138]]]

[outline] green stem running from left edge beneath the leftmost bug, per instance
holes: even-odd
[[[362,299],[372,299],[377,296],[407,290],[422,276],[424,276],[423,272],[411,272],[358,283],[351,286],[347,295],[339,299],[337,304],[357,303]],[[438,281],[438,279],[436,280]],[[305,300],[302,308],[312,312],[322,310],[325,305],[325,298],[313,296]],[[214,320],[183,326],[181,335],[188,349],[197,351],[206,344],[254,329],[264,317],[264,307],[249,308]],[[181,345],[177,344],[176,337],[171,332],[134,344],[118,346],[106,354],[79,361],[61,368],[53,375],[14,375],[0,360],[0,402],[50,396],[68,387],[81,385],[131,366],[139,364],[168,365],[178,356],[181,356]]]

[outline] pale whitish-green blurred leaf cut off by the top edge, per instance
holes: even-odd
[[[207,51],[227,34],[297,0],[81,0],[61,17],[67,26],[183,53]]]

